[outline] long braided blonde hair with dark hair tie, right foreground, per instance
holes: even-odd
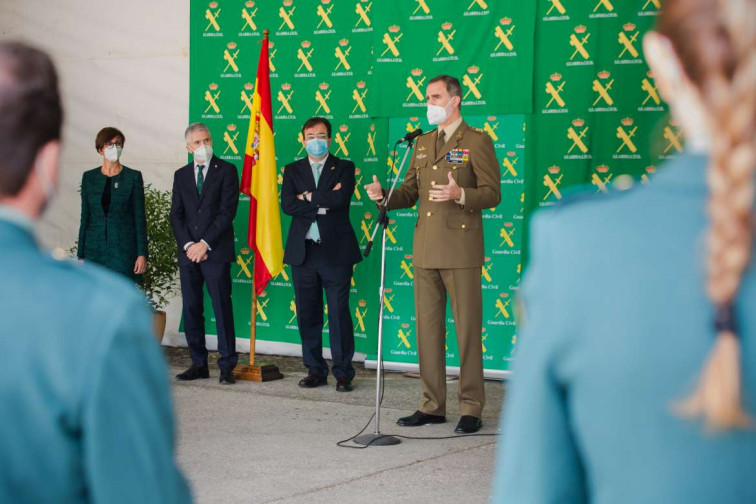
[[[712,429],[746,428],[735,299],[754,239],[756,0],[667,0],[659,32],[697,86],[712,130],[707,293],[717,337],[678,411]]]

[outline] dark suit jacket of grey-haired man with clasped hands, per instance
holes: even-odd
[[[239,173],[236,166],[216,156],[197,194],[194,163],[176,170],[173,177],[171,225],[179,249],[179,266],[191,261],[184,245],[205,240],[208,261],[231,262],[235,258],[234,217],[239,205]]]

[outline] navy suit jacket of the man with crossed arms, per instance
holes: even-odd
[[[334,190],[337,184],[341,188]],[[297,199],[297,194],[312,192],[311,201]],[[360,246],[349,221],[349,203],[354,193],[354,163],[329,155],[315,186],[315,177],[307,158],[284,169],[281,209],[291,215],[284,262],[299,266],[305,259],[305,235],[317,220],[320,240],[331,266],[350,266],[360,262]],[[318,209],[327,208],[325,214]]]

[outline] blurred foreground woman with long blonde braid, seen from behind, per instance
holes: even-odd
[[[756,0],[667,0],[686,152],[538,214],[494,502],[756,502]]]

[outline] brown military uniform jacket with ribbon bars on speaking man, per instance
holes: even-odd
[[[501,200],[499,162],[486,134],[462,121],[440,152],[437,130],[420,136],[404,182],[391,195],[389,209],[417,203],[413,263],[418,268],[475,268],[483,265],[481,211]],[[454,152],[456,149],[456,152]],[[447,156],[452,152],[458,156]],[[455,160],[454,157],[467,158]],[[451,173],[464,189],[464,206],[454,201],[430,201],[434,185],[449,183]]]

